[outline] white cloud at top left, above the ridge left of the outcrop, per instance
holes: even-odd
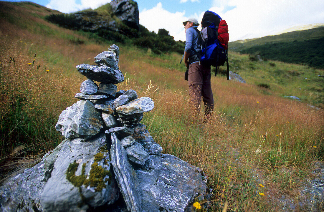
[[[111,0],[81,0],[81,4],[77,4],[76,0],[51,0],[46,7],[63,13],[71,13],[87,8],[95,9],[109,2]]]

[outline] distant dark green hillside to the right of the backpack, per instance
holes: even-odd
[[[324,69],[324,26],[228,44],[240,53],[259,54],[269,60],[307,64]]]

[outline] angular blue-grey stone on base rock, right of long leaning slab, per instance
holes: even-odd
[[[147,158],[150,156],[144,150],[144,147],[138,142],[135,142],[132,146],[127,147],[126,152],[128,160],[140,166],[143,166]]]

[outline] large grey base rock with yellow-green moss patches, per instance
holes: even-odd
[[[45,211],[87,210],[119,198],[106,142],[100,134],[87,142],[68,139],[63,144],[40,197]]]

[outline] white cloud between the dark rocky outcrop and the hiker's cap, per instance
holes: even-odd
[[[140,24],[150,31],[157,33],[158,29],[164,28],[175,40],[185,40],[185,31],[182,24],[189,17],[184,16],[185,11],[170,13],[162,7],[162,3],[158,3],[152,9],[140,12]],[[196,17],[197,18],[197,17]]]

